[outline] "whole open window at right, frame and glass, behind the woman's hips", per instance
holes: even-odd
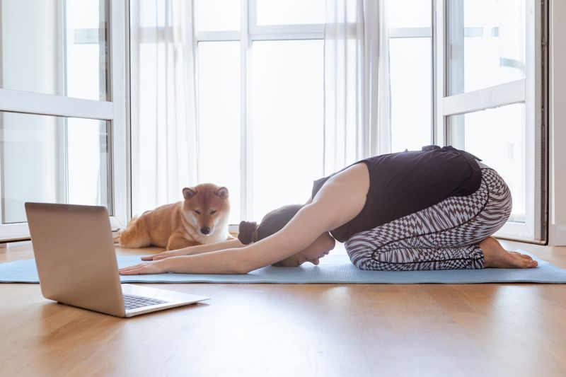
[[[544,242],[545,10],[535,0],[446,4],[445,140],[483,158],[509,185],[512,215],[497,234]]]

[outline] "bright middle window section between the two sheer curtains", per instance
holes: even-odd
[[[325,1],[292,2],[195,2],[198,181],[230,188],[231,224],[305,202],[322,175]]]

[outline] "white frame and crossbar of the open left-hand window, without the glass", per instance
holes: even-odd
[[[129,213],[129,169],[127,168],[127,108],[126,108],[126,32],[127,7],[124,1],[106,1],[106,19],[110,69],[108,101],[70,98],[61,95],[30,93],[0,88],[0,111],[21,112],[57,117],[79,117],[108,121],[108,158],[110,160],[108,192],[112,228],[121,228]],[[75,33],[88,40],[92,32]],[[91,38],[92,39],[92,38]],[[98,42],[97,36],[93,39]],[[1,173],[1,172],[0,172]],[[1,184],[0,174],[0,184]],[[0,201],[1,211],[1,201]],[[0,242],[27,240],[30,231],[27,223],[0,224]]]

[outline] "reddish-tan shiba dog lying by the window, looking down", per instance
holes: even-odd
[[[134,217],[115,238],[123,248],[154,245],[167,250],[231,239],[228,189],[202,183],[183,189],[185,200]]]

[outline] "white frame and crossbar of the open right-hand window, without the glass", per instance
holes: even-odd
[[[447,1],[435,0],[434,48],[436,49],[435,134],[437,144],[451,141],[448,117],[478,110],[497,108],[512,103],[525,103],[526,116],[526,214],[525,223],[508,221],[496,236],[532,243],[547,240],[546,199],[546,134],[547,117],[544,108],[547,83],[543,65],[546,65],[547,40],[546,4],[541,0],[526,1],[526,73],[525,79],[502,83],[458,95],[448,95],[449,71],[446,54],[448,33]]]

